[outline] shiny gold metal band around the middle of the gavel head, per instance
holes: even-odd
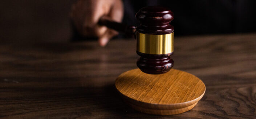
[[[163,35],[137,32],[137,51],[145,54],[168,54],[174,51],[174,32]]]

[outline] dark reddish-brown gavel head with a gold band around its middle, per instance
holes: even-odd
[[[137,54],[141,58],[137,66],[142,72],[162,74],[170,71],[174,61],[174,27],[170,25],[173,13],[165,7],[141,8],[136,18],[140,25],[136,28]]]

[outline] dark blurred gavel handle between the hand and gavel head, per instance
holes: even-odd
[[[118,32],[125,33],[127,36],[134,37],[136,30],[135,26],[128,26],[122,23],[111,20],[108,16],[102,16],[98,22],[99,25],[107,26],[110,29],[114,29]]]

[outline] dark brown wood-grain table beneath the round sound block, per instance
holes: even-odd
[[[256,34],[175,37],[175,69],[198,76],[194,109],[149,115],[126,106],[115,78],[137,68],[135,40],[0,44],[0,118],[255,119]]]

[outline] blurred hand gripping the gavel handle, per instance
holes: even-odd
[[[99,26],[99,18],[107,15],[121,22],[123,18],[122,0],[78,0],[72,5],[70,17],[82,36],[98,37],[100,46],[105,46],[117,31]]]

